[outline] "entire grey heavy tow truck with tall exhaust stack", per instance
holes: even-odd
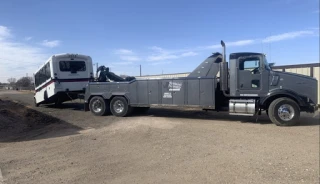
[[[102,116],[128,116],[154,106],[193,107],[255,116],[266,111],[278,126],[299,123],[300,112],[318,106],[317,80],[273,71],[263,53],[213,53],[189,76],[170,79],[120,79],[103,68],[97,81],[86,85],[85,110]],[[108,76],[111,78],[108,78]]]

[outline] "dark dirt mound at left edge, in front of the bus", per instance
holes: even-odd
[[[11,101],[0,100],[0,141],[17,139],[61,120]]]

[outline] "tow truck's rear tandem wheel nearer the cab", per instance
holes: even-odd
[[[124,117],[131,114],[132,107],[124,97],[116,96],[110,102],[110,111],[114,116]]]

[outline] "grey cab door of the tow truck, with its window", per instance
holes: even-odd
[[[268,71],[264,70],[264,56],[239,57],[237,62],[237,91],[239,96],[259,96],[268,88]]]

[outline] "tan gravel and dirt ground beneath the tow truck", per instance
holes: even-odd
[[[79,101],[57,109],[32,107],[28,92],[0,99],[0,183],[319,183],[317,114],[277,127],[265,115],[258,123],[192,109],[96,117]]]

